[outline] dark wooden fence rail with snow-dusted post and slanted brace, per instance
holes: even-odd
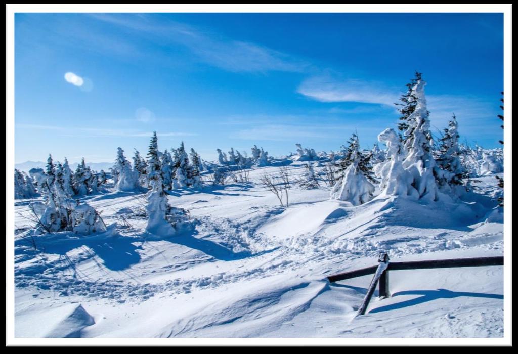
[[[389,262],[389,255],[381,253],[378,262],[385,262],[386,267],[381,274],[377,274],[371,281],[369,286],[370,291],[359,308],[358,315],[365,314],[367,306],[372,297],[373,288],[376,287],[379,281],[380,298],[390,297],[389,290],[389,271],[394,270],[409,270],[409,269],[432,269],[432,268],[457,268],[457,267],[487,267],[488,265],[503,265],[503,257],[478,257],[478,258],[456,258],[456,259],[434,259],[425,261],[410,261],[410,262]],[[345,279],[356,278],[359,276],[375,274],[380,266],[362,268],[355,271],[339,273],[327,276],[329,282],[338,282]]]

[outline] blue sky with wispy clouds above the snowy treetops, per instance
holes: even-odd
[[[415,70],[433,132],[498,147],[499,13],[17,13],[15,162],[114,160],[184,141],[205,159],[253,144],[370,148]],[[65,76],[65,74],[68,75]],[[67,80],[68,79],[68,80]]]

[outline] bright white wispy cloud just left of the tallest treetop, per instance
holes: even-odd
[[[337,80],[316,76],[305,80],[297,89],[299,94],[321,102],[364,102],[394,106],[399,92],[382,83],[358,79]]]

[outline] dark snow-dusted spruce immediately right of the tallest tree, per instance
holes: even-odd
[[[439,141],[437,166],[434,172],[437,184],[444,193],[460,196],[466,191],[468,172],[462,166],[459,158],[458,137],[458,123],[454,114]]]

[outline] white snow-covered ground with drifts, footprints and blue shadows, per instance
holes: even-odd
[[[353,206],[293,184],[289,207],[259,182],[176,189],[193,232],[145,231],[145,194],[87,196],[108,231],[15,236],[16,337],[502,337],[503,267],[393,271],[392,297],[355,317],[372,275],[327,275],[391,260],[503,255],[494,176],[472,202],[378,197]],[[303,164],[289,166],[295,179]],[[319,171],[319,169],[316,169]],[[28,224],[27,200],[15,223]],[[118,223],[119,227],[109,226]],[[33,245],[36,245],[34,248]]]

